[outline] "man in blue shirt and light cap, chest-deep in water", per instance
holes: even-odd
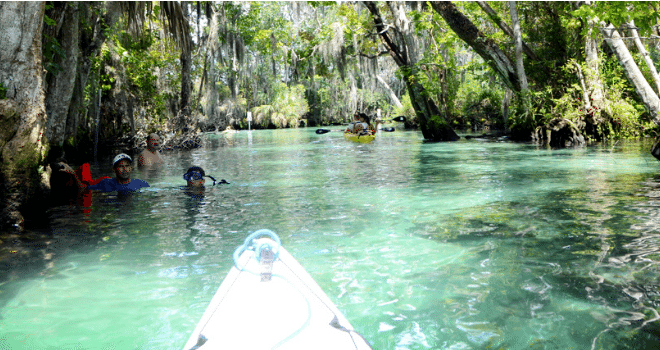
[[[132,192],[137,191],[143,187],[149,187],[146,181],[140,179],[131,179],[131,172],[133,172],[133,159],[128,154],[121,153],[112,160],[112,169],[115,172],[115,178],[107,178],[101,180],[95,185],[87,185],[87,183],[80,181],[75,172],[66,171],[75,176],[78,183],[78,190],[84,192],[85,190],[95,190],[101,192]]]

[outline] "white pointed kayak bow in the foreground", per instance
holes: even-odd
[[[235,259],[242,270],[231,268],[184,349],[371,349],[289,252],[280,246],[270,267],[255,254]]]

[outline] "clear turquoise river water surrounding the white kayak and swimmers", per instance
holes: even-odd
[[[261,228],[374,349],[660,348],[648,141],[550,150],[397,131],[357,144],[289,129],[204,144],[136,169],[142,193],[94,194],[5,239],[0,349],[180,349]],[[183,191],[192,165],[231,184]]]

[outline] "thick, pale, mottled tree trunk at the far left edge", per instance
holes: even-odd
[[[0,225],[22,229],[26,200],[40,192],[48,151],[42,80],[43,1],[0,2]]]

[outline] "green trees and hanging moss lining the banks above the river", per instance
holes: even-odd
[[[5,223],[51,161],[246,129],[248,112],[258,129],[380,109],[433,141],[553,147],[656,137],[660,121],[655,2],[9,1],[0,17]]]

